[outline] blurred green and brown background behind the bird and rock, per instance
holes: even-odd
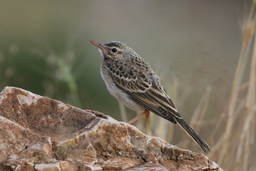
[[[229,123],[234,113],[233,80],[241,56],[249,58],[243,60],[247,65],[238,82],[242,92],[238,92],[233,106],[245,104],[242,100],[248,98],[254,24],[250,43],[246,43],[249,52],[241,54],[241,47],[245,44],[244,31],[254,3],[251,0],[0,0],[0,89],[20,87],[127,122],[136,113],[124,108],[107,91],[100,75],[102,59],[89,42],[121,41],[160,76],[179,113],[212,147],[210,159],[224,169],[255,169],[254,138],[249,141],[249,149],[239,146],[241,139],[246,144],[240,131],[246,119],[240,123],[235,118]],[[239,112],[243,113],[245,107],[241,106]],[[237,111],[235,107],[232,109]],[[150,135],[201,152],[178,126],[153,114],[150,117]],[[255,114],[251,117],[253,122],[249,125],[255,123]],[[144,132],[144,119],[135,125]],[[254,136],[254,127],[250,131]],[[232,138],[237,140],[235,145]],[[228,151],[230,147],[235,149]]]

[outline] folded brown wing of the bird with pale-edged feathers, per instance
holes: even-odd
[[[143,72],[139,67],[117,60],[106,62],[105,66],[117,87],[135,102],[171,122],[176,123],[173,116],[181,118],[153,71]]]

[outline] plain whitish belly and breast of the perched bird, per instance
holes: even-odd
[[[124,105],[126,105],[126,107],[128,107],[134,111],[144,111],[145,110],[144,107],[142,107],[141,105],[139,105],[136,102],[134,102],[133,100],[131,100],[125,92],[120,90],[114,84],[114,82],[112,82],[112,80],[110,80],[111,78],[108,78],[106,73],[104,73],[102,70],[101,70],[101,77],[104,80],[104,82],[107,86],[107,90],[110,92],[110,94],[113,95],[115,98],[117,98],[117,100],[122,102]]]

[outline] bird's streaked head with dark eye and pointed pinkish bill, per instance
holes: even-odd
[[[106,42],[104,44],[92,40],[90,42],[98,47],[103,60],[109,58],[121,58],[124,56],[125,52],[131,50],[126,44],[117,41]]]

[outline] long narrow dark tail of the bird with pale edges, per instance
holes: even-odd
[[[206,144],[206,142],[204,142],[204,140],[202,140],[182,118],[176,118],[176,121],[181,126],[181,128],[199,145],[199,147],[201,147],[201,149],[205,153],[211,152],[208,144]]]

